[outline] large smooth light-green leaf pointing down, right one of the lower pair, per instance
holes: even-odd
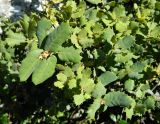
[[[43,59],[36,67],[32,75],[32,81],[35,85],[43,83],[55,72],[57,58],[52,55],[48,59]]]

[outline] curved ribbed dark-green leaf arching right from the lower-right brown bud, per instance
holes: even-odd
[[[130,107],[134,101],[130,96],[123,92],[109,92],[104,96],[105,105],[108,107],[123,106]]]

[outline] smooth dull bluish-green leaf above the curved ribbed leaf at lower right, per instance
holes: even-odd
[[[98,79],[101,81],[101,83],[106,86],[109,83],[117,80],[117,76],[116,74],[114,74],[113,72],[110,71],[106,71],[105,73],[101,74]]]

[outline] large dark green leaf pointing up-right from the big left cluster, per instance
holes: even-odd
[[[71,28],[68,23],[62,23],[58,28],[48,35],[45,50],[57,52],[62,44],[69,38]]]

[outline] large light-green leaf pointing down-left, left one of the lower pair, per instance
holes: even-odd
[[[26,81],[37,65],[40,63],[38,58],[43,50],[37,49],[28,53],[27,57],[22,61],[22,65],[19,70],[20,81]]]

